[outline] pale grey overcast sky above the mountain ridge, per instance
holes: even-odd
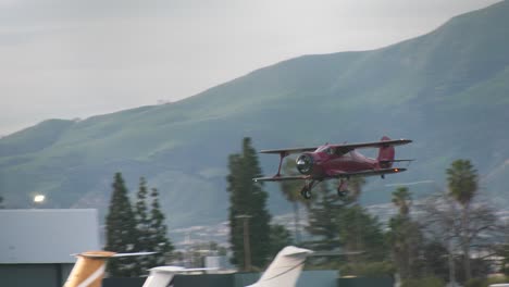
[[[413,38],[498,0],[0,0],[0,135],[176,101],[302,54]]]

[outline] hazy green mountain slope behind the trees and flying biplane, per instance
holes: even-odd
[[[115,172],[136,192],[157,187],[172,228],[226,219],[227,157],[249,136],[258,149],[411,138],[409,171],[370,179],[363,201],[387,202],[400,182],[418,197],[440,189],[455,159],[470,159],[482,190],[509,202],[509,1],[382,49],[305,55],[188,99],[94,116],[49,120],[0,139],[4,205],[107,209]],[[277,159],[261,155],[266,174]],[[266,184],[274,213],[289,210]],[[413,190],[413,187],[411,187]],[[421,194],[422,192],[422,194]]]

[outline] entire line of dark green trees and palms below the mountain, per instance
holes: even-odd
[[[287,173],[291,164],[285,164]],[[291,224],[273,224],[264,185],[252,180],[262,171],[250,138],[243,139],[240,152],[228,157],[228,249],[231,262],[240,270],[261,271],[277,251],[294,244],[339,254],[310,259],[312,269],[336,269],[340,275],[397,276],[402,286],[445,286],[447,282],[486,286],[489,273],[509,274],[509,233],[480,197],[477,171],[469,160],[454,161],[446,170],[447,188],[426,199],[413,200],[408,187],[397,188],[392,195],[395,212],[387,222],[359,204],[367,184],[362,177],[350,179],[346,199],[322,183],[311,200],[303,200],[299,184],[283,182],[281,191],[294,207],[293,225],[301,221],[302,213],[308,219],[306,233],[294,228],[294,234],[286,227]],[[137,202],[132,205],[122,176],[116,174],[113,190],[107,249],[171,252],[157,189],[149,194],[141,178]],[[145,265],[128,260],[110,264],[111,274],[134,276],[148,265],[163,263],[163,257]]]

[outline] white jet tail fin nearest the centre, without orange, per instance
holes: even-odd
[[[287,246],[277,253],[260,279],[249,287],[295,286],[306,258],[312,251]]]

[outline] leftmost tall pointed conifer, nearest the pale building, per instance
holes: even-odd
[[[114,252],[134,252],[136,247],[136,221],[121,173],[116,173],[113,192],[105,220],[107,244],[104,249]],[[137,276],[134,257],[116,258],[108,262],[108,272],[112,277]]]

